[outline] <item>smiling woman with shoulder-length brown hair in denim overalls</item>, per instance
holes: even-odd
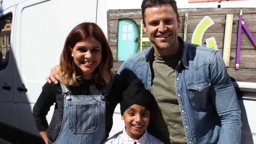
[[[61,84],[46,83],[33,109],[45,143],[102,143],[127,84],[111,71],[113,56],[95,23],[77,25],[60,57]],[[55,103],[50,125],[46,115]]]

